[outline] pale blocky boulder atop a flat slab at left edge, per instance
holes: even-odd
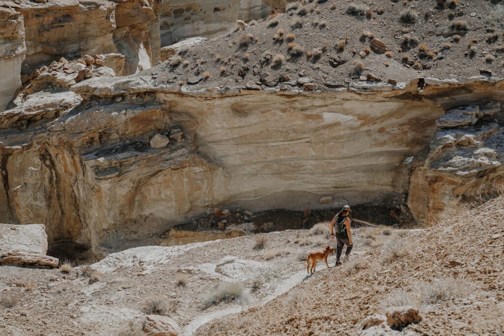
[[[0,253],[19,250],[45,254],[47,234],[42,224],[0,224]]]

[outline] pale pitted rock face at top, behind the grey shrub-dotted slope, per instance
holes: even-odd
[[[173,0],[161,6],[161,45],[167,46],[188,37],[207,38],[233,29],[240,0]]]

